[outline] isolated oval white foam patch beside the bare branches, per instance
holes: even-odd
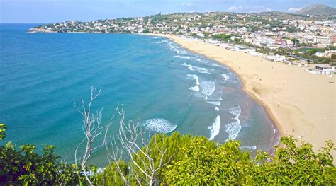
[[[172,124],[168,120],[162,118],[152,118],[147,120],[143,126],[155,132],[169,133],[177,128],[177,125]]]

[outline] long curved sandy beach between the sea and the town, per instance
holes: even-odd
[[[335,141],[335,76],[310,74],[303,67],[269,62],[201,40],[161,36],[235,71],[244,90],[264,106],[282,136],[310,142],[315,150],[329,139]]]

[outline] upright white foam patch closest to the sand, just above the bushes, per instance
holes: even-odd
[[[229,112],[232,115],[235,115],[235,117],[233,118],[235,119],[235,122],[226,124],[226,132],[228,132],[229,134],[229,138],[227,140],[235,139],[237,135],[239,134],[240,129],[242,129],[242,126],[240,125],[240,120],[239,120],[240,113],[242,112],[240,106],[230,108]]]

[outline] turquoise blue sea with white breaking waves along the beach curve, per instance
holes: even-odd
[[[139,119],[152,132],[238,139],[250,151],[271,151],[277,140],[264,109],[241,90],[233,71],[171,40],[26,34],[33,25],[0,26],[0,122],[13,144],[54,144],[58,155],[72,161],[83,137],[73,98],[87,100],[91,85],[102,88],[93,110],[103,108],[103,124],[123,103],[127,119]],[[106,163],[102,152],[94,158]]]

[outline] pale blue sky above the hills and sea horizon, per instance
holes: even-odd
[[[0,0],[1,23],[55,23],[176,12],[293,12],[310,4],[335,7],[335,0]]]

